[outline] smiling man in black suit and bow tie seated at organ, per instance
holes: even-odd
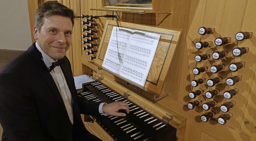
[[[77,96],[65,56],[72,41],[72,10],[48,1],[38,8],[35,19],[36,43],[0,72],[2,141],[100,140],[86,130],[80,114],[126,116],[118,110],[129,113],[128,105]]]

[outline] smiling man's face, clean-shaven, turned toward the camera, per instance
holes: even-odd
[[[34,38],[52,59],[62,59],[72,42],[72,22],[63,16],[44,18],[40,32],[34,27]]]

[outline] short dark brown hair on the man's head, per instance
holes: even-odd
[[[44,18],[48,18],[50,16],[63,16],[70,18],[72,22],[72,26],[74,26],[74,11],[70,8],[60,4],[56,1],[47,1],[43,3],[36,11],[35,16],[35,26],[40,32],[42,25],[44,24]]]

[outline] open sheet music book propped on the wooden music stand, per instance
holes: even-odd
[[[160,36],[113,27],[102,67],[145,86]]]

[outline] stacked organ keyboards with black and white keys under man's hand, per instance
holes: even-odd
[[[126,102],[130,113],[125,117],[92,116],[94,120],[116,141],[175,141],[176,129],[146,109],[122,96],[101,82],[83,84],[80,95],[94,102]]]

